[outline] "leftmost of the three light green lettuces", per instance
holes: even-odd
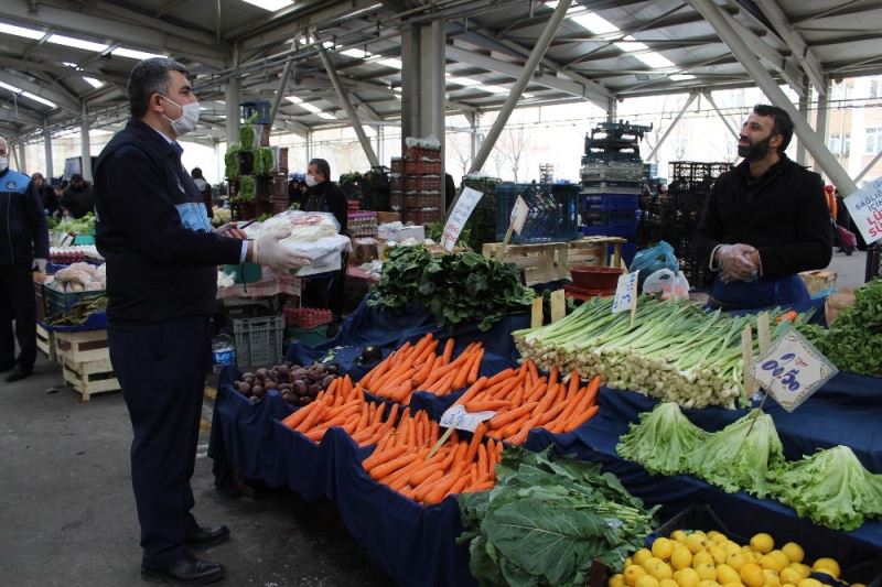
[[[689,422],[679,405],[665,402],[641,414],[639,424],[631,424],[615,449],[652,474],[677,475],[688,470],[690,456],[709,437],[710,433]]]

